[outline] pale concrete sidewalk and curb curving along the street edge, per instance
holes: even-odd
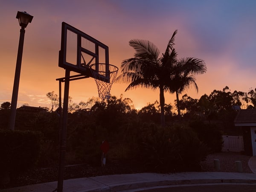
[[[248,165],[256,173],[256,157],[251,157]],[[173,186],[206,183],[249,183],[256,184],[256,174],[236,172],[182,172],[174,174],[140,173],[107,175],[64,180],[63,192],[132,192],[156,186]],[[57,181],[12,189],[0,192],[52,192]]]

